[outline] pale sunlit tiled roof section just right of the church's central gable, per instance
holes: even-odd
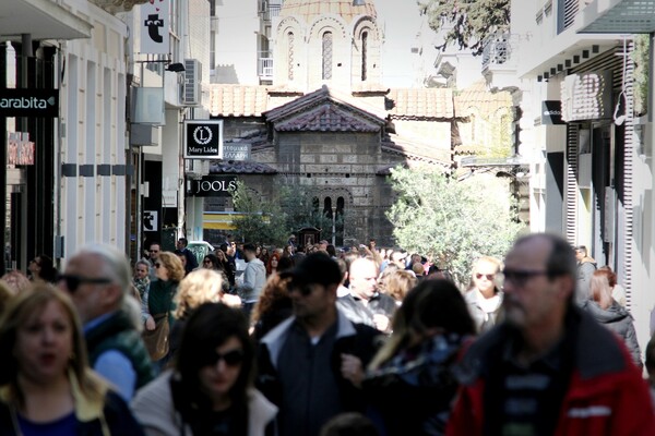
[[[454,116],[453,90],[449,88],[392,88],[386,98],[392,118],[433,120]]]

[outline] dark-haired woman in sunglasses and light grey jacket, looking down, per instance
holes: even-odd
[[[204,303],[187,320],[174,368],[132,401],[134,415],[146,435],[274,434],[277,410],[251,387],[253,359],[243,314]]]

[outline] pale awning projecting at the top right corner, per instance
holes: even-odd
[[[655,32],[655,2],[594,0],[582,11],[579,33],[650,34]]]

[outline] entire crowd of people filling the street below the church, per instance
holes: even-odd
[[[0,280],[0,435],[655,434],[655,340],[644,377],[615,272],[560,237],[466,288],[374,240],[186,245]]]

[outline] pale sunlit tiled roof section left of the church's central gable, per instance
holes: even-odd
[[[260,117],[266,110],[265,86],[210,85],[210,113],[214,117]]]

